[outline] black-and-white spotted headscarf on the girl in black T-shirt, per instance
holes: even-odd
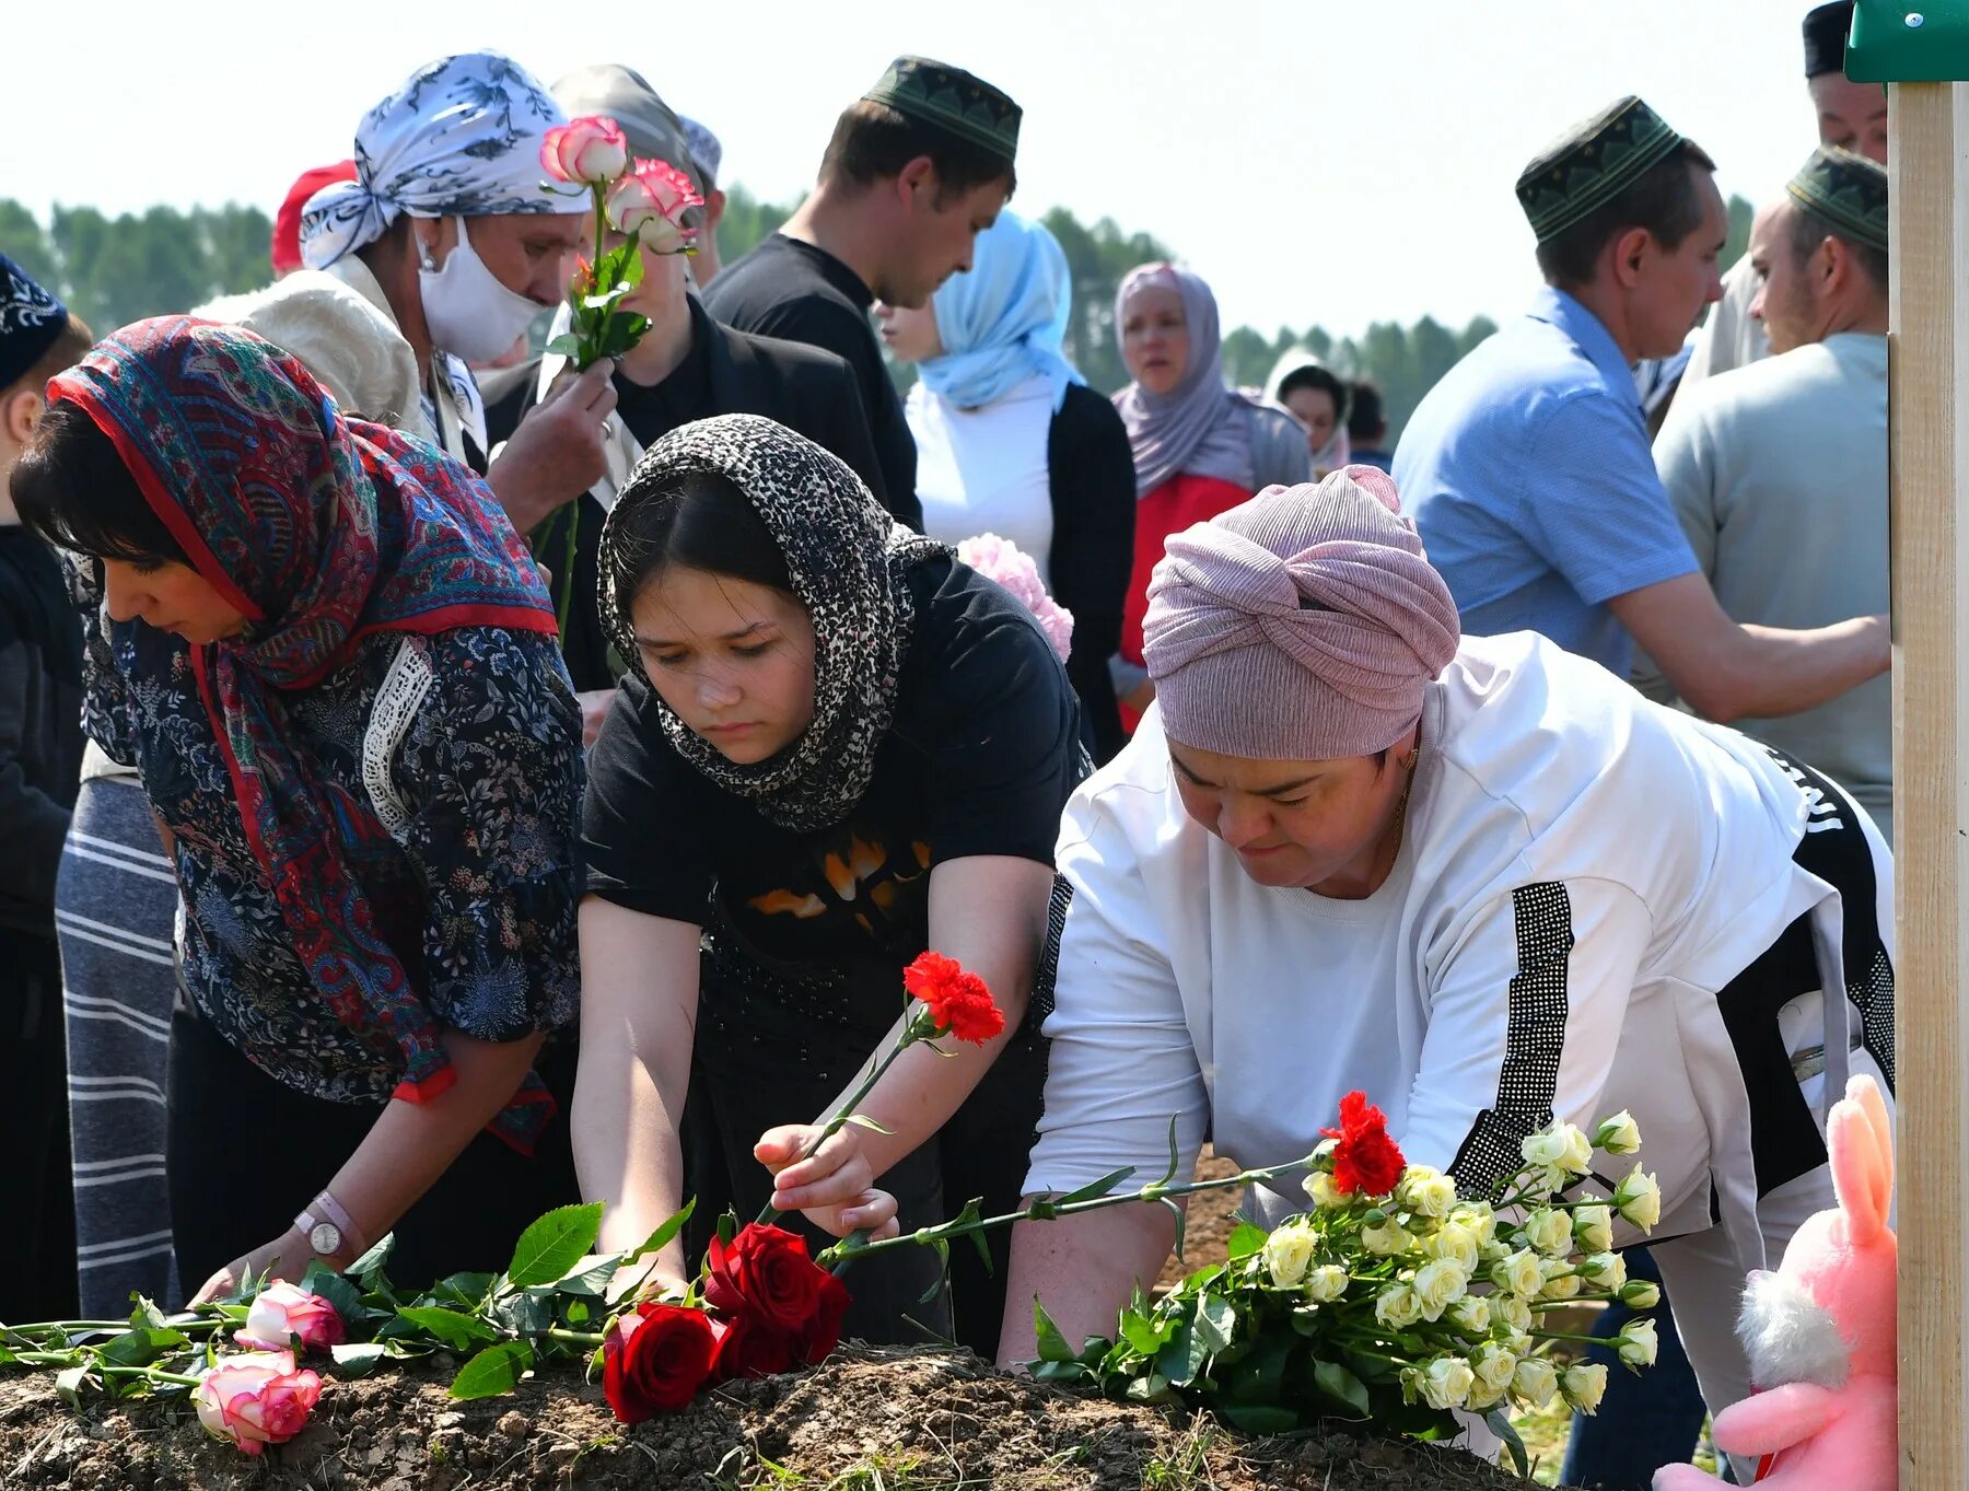
[[[601,540],[601,613],[616,652],[644,683],[618,585],[634,569],[622,551],[630,516],[662,500],[689,471],[738,486],[786,555],[794,593],[813,618],[813,721],[768,760],[738,764],[689,729],[656,689],[664,735],[691,766],[750,798],[780,827],[807,833],[847,817],[868,790],[876,750],[896,715],[896,683],[916,607],[908,565],[949,553],[882,508],[841,457],[756,414],[699,420],[664,435],[630,473]]]

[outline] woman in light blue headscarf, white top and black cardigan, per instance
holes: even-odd
[[[1067,678],[1095,760],[1120,750],[1109,658],[1134,557],[1134,461],[1114,406],[1067,362],[1067,256],[1016,213],[977,236],[971,272],[929,305],[878,305],[890,353],[918,364],[904,414],[916,435],[923,532],[998,534],[1040,565],[1073,613]]]

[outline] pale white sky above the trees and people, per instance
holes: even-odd
[[[634,67],[790,201],[835,114],[914,51],[1020,104],[1014,207],[1174,246],[1223,323],[1359,333],[1504,315],[1536,286],[1512,183],[1638,93],[1768,197],[1811,152],[1802,0],[96,0],[8,20],[0,195],[268,213],[413,67],[494,47],[543,81]],[[26,32],[22,30],[26,24]],[[587,39],[585,39],[587,37]],[[599,39],[608,37],[608,39]],[[32,59],[32,61],[30,61]]]

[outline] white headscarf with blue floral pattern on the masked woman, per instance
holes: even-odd
[[[512,57],[467,51],[419,67],[356,126],[356,179],[301,209],[301,260],[323,270],[402,213],[585,213],[589,193],[541,189],[540,146],[567,114]]]

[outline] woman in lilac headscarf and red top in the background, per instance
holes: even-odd
[[[1128,425],[1138,498],[1114,689],[1134,729],[1156,697],[1142,666],[1142,616],[1162,540],[1266,486],[1305,481],[1311,461],[1290,414],[1225,386],[1217,297],[1201,278],[1174,264],[1130,270],[1114,295],[1114,329],[1134,378],[1114,408]]]

